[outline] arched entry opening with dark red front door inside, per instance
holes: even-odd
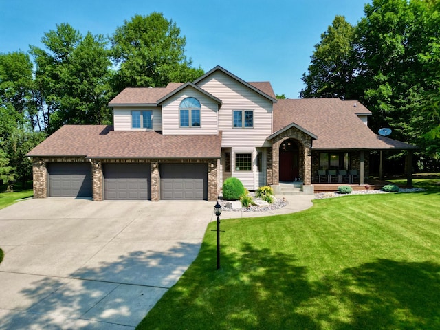
[[[299,149],[294,140],[286,140],[280,146],[280,181],[299,179]]]

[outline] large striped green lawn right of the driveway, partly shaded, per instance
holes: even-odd
[[[440,179],[215,223],[137,329],[440,329]]]

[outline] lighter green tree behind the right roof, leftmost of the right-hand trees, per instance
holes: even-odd
[[[352,98],[353,40],[355,28],[344,17],[336,16],[328,30],[315,45],[308,73],[303,74],[306,87],[301,98]]]

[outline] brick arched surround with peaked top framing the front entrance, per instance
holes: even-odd
[[[303,178],[304,186],[309,186],[311,185],[311,137],[296,127],[287,129],[272,139],[272,175],[270,176],[268,162],[267,184],[278,185],[280,183],[280,146],[288,139],[298,142],[300,177]],[[272,182],[269,183],[270,181]]]

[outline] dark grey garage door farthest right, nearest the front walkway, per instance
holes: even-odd
[[[161,199],[208,199],[207,164],[161,164]]]

